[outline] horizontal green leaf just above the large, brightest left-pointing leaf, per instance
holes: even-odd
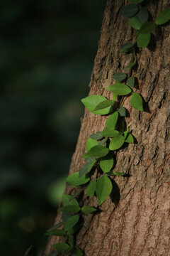
[[[124,85],[121,82],[116,81],[114,85],[107,87],[108,90],[115,93],[116,95],[128,95],[132,90],[127,85]]]

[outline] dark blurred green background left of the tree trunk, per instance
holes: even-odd
[[[1,0],[0,255],[40,256],[79,135],[104,0]]]

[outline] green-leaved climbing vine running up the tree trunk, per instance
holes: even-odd
[[[146,48],[149,45],[151,33],[157,25],[162,25],[170,19],[170,8],[161,11],[154,22],[148,21],[149,12],[142,8],[144,0],[128,0],[130,4],[120,10],[120,14],[129,18],[130,26],[135,28],[136,40],[133,43],[125,43],[120,51],[128,55],[131,53],[134,60],[125,67],[131,70],[131,76],[126,73],[115,73],[113,79],[115,83],[107,87],[112,92],[112,100],[106,99],[101,95],[90,95],[81,100],[87,110],[94,114],[109,115],[106,119],[103,131],[95,132],[86,141],[86,153],[82,156],[86,164],[77,172],[67,177],[67,185],[78,188],[73,196],[63,194],[62,222],[50,228],[46,235],[63,236],[65,242],[60,242],[53,247],[55,252],[49,256],[73,254],[76,256],[84,255],[76,243],[76,233],[84,225],[84,214],[95,214],[97,208],[93,206],[80,206],[77,198],[80,193],[86,196],[96,196],[98,206],[106,201],[113,190],[112,178],[114,176],[125,176],[125,173],[114,171],[115,154],[130,143],[135,143],[135,138],[126,127],[125,117],[128,110],[125,109],[125,100],[130,98],[130,105],[135,110],[143,111],[143,100],[137,92],[137,73],[133,71],[137,63],[136,50]],[[60,227],[64,227],[59,229]]]

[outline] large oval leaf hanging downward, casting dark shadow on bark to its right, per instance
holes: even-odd
[[[106,201],[108,196],[111,194],[112,191],[112,183],[110,178],[107,176],[101,176],[98,178],[98,181],[96,183],[96,195],[98,199],[98,204],[101,206],[101,204]]]

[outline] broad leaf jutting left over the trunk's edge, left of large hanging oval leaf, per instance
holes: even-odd
[[[69,175],[66,181],[67,183],[69,183],[69,185],[79,186],[89,182],[90,178],[86,175],[79,177],[79,171],[76,171],[73,174]]]

